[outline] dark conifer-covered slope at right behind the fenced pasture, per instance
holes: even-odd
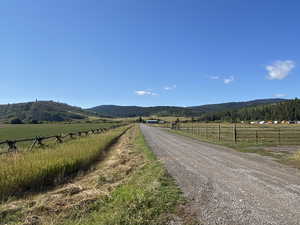
[[[236,110],[206,113],[199,117],[201,121],[257,121],[257,120],[289,120],[300,121],[300,100],[289,100],[280,103],[245,107]]]

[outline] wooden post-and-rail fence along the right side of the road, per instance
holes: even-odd
[[[173,129],[219,142],[299,145],[300,126],[179,123]]]

